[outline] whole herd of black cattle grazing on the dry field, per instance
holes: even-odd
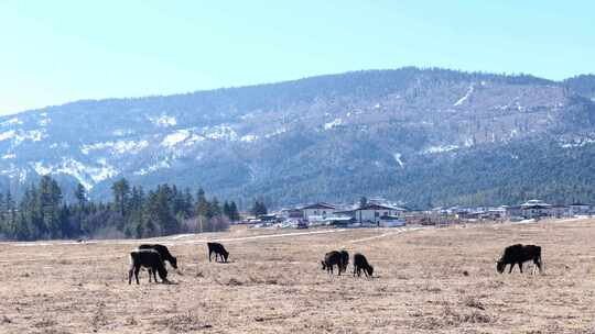
[[[215,261],[226,261],[229,256],[229,252],[219,243],[207,243],[208,247],[208,261],[212,261],[212,255],[215,253]],[[533,272],[537,268],[541,272],[541,247],[536,245],[521,245],[516,244],[505,248],[502,256],[496,261],[496,269],[502,274],[507,265],[510,265],[509,274],[512,272],[515,265],[519,266],[520,272],[522,272],[522,264],[532,260]],[[128,271],[128,283],[132,283],[132,274],[139,283],[139,271],[141,268],[147,268],[149,271],[149,282],[151,278],[158,282],[156,275],[161,278],[162,282],[170,282],[167,280],[167,269],[165,269],[165,261],[177,269],[177,259],[170,253],[166,246],[159,244],[144,244],[140,245],[137,249],[130,253],[130,270]],[[322,269],[328,274],[333,274],[333,268],[336,266],[338,275],[347,270],[349,264],[349,253],[347,250],[332,250],[324,255],[321,260]],[[374,267],[368,263],[366,257],[356,253],[354,255],[354,276],[360,276],[361,271],[366,277],[372,277]]]

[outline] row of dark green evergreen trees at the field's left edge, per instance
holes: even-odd
[[[226,230],[239,221],[234,201],[207,199],[176,186],[145,190],[122,178],[111,186],[112,202],[91,202],[85,188],[76,187],[75,201],[66,203],[57,182],[44,176],[31,185],[17,203],[10,191],[0,193],[0,238],[151,237],[175,233]]]

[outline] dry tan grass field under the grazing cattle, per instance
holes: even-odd
[[[140,286],[127,278],[139,241],[1,243],[0,333],[595,333],[594,221],[400,231],[162,238],[180,274]],[[228,264],[208,263],[217,238]],[[497,274],[512,243],[541,245],[544,275]],[[342,247],[377,277],[322,271]]]

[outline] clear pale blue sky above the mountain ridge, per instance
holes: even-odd
[[[348,70],[595,71],[595,1],[0,2],[0,114]]]

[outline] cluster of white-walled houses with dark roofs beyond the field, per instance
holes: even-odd
[[[595,209],[585,203],[554,205],[530,200],[520,205],[486,208],[434,208],[413,211],[383,199],[371,199],[361,204],[332,204],[318,202],[255,218],[257,226],[306,229],[332,225],[337,227],[397,227],[404,225],[441,225],[473,221],[522,221],[544,218],[592,215]]]

